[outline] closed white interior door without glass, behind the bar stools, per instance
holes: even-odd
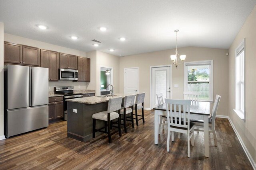
[[[124,68],[124,94],[139,92],[138,68]]]

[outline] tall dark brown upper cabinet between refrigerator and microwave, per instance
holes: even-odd
[[[58,81],[59,53],[55,51],[40,51],[41,67],[49,68],[49,81]]]

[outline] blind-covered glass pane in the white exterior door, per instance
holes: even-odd
[[[156,94],[162,93],[163,98],[166,98],[166,70],[156,70]],[[157,97],[155,97],[155,104],[158,105]]]

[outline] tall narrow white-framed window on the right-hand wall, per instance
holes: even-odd
[[[236,109],[234,111],[244,119],[244,40],[236,48]]]

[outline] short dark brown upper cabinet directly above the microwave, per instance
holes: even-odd
[[[60,68],[77,70],[77,56],[60,53]]]

